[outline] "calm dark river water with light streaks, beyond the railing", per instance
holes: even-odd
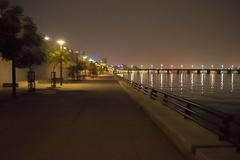
[[[240,118],[239,74],[132,72],[122,76]]]

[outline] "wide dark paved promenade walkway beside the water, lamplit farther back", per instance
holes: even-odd
[[[1,160],[182,160],[113,77],[0,100]]]

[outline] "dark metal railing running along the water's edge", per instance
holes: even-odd
[[[172,93],[160,91],[153,87],[130,81],[121,76],[117,77],[137,91],[166,104],[166,106],[183,115],[184,119],[190,119],[216,133],[220,140],[232,142],[237,146],[237,151],[240,151],[240,123],[234,119],[234,116],[189,101]]]

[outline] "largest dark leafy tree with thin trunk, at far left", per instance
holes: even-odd
[[[36,25],[23,15],[21,7],[1,1],[0,14],[0,52],[3,59],[12,62],[12,93],[16,97],[16,65],[25,67],[40,63],[36,55],[41,38],[36,33]]]

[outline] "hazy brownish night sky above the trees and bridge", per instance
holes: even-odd
[[[240,0],[10,0],[111,64],[240,65]]]

